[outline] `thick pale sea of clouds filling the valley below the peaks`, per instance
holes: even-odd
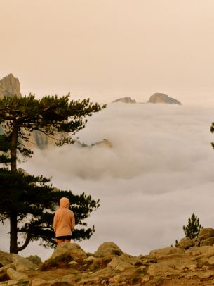
[[[91,194],[100,208],[87,222],[95,225],[95,251],[115,242],[128,254],[148,254],[184,237],[192,213],[214,228],[213,108],[166,104],[109,104],[78,133],[82,143],[108,139],[112,148],[77,145],[34,150],[22,164],[29,173],[52,176],[55,187]],[[1,226],[1,250],[8,251]],[[29,244],[22,256],[47,259],[51,249]]]

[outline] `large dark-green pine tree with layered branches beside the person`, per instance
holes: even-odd
[[[59,98],[52,96],[35,99],[34,95],[30,94],[29,97],[0,99],[0,124],[4,130],[4,134],[0,135],[0,163],[10,166],[10,171],[0,169],[0,192],[4,198],[0,202],[0,220],[10,220],[10,252],[18,253],[30,240],[42,239],[42,244],[53,246],[53,211],[59,197],[64,194],[62,191],[53,194],[52,187],[46,185],[48,179],[42,176],[24,176],[18,172],[18,156],[22,154],[31,157],[33,154],[32,150],[26,147],[32,132],[37,130],[54,137],[58,146],[72,144],[74,140],[71,136],[86,126],[86,116],[91,116],[102,108],[105,106],[93,104],[89,99],[69,101],[69,94]],[[42,199],[36,201],[37,192],[38,196],[41,195],[44,199],[44,203]],[[74,196],[65,191],[65,195],[73,203],[72,209],[77,215],[77,222],[86,227],[82,220],[98,208],[99,201],[93,201],[91,196],[85,194]],[[46,209],[49,211],[44,211]],[[94,228],[81,228],[74,232],[74,238],[89,238],[93,231]],[[25,235],[21,248],[18,247],[18,232]]]

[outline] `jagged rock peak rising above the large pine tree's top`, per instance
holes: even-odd
[[[2,97],[21,97],[20,82],[12,73],[0,80],[0,98]]]

